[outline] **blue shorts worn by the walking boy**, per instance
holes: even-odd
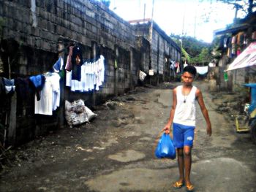
[[[193,147],[195,126],[173,123],[173,145],[176,148]]]

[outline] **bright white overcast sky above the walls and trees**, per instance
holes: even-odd
[[[111,0],[110,9],[124,20],[152,16],[153,0]],[[167,35],[184,34],[211,42],[213,31],[233,23],[235,10],[227,4],[199,0],[154,0],[153,19]],[[206,22],[208,20],[208,22]]]

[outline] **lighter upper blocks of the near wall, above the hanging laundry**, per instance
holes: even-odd
[[[115,44],[135,47],[132,26],[98,1],[1,1],[1,7],[4,38],[23,45],[57,53],[58,40],[65,37],[89,47],[91,41],[112,50]]]

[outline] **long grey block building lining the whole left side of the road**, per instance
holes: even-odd
[[[21,91],[1,97],[1,143],[18,145],[64,126],[66,100],[83,99],[93,107],[132,91],[140,82],[140,70],[148,74],[153,69],[152,82],[168,80],[168,61],[180,60],[180,48],[156,23],[153,26],[150,39],[149,23],[141,36],[139,27],[94,0],[1,0],[0,77],[25,82]],[[62,71],[60,107],[53,115],[34,114],[35,92],[26,84],[28,78],[51,71],[60,56],[66,64],[72,45],[87,61],[105,57],[103,85],[99,91],[72,91]]]

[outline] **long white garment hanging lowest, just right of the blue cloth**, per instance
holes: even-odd
[[[41,99],[38,101],[35,96],[34,113],[41,115],[53,115],[53,111],[60,104],[60,76],[57,73],[45,74],[45,85],[40,92]]]

